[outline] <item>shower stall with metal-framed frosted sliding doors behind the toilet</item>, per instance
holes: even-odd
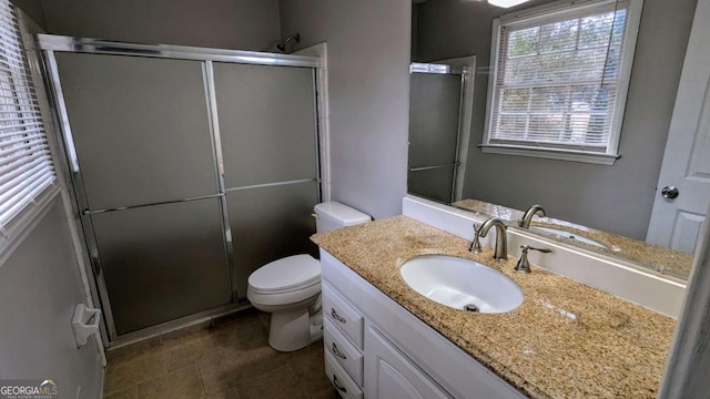
[[[39,35],[110,341],[236,308],[321,200],[317,58]]]

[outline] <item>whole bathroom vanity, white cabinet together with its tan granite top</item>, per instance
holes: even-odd
[[[407,216],[316,234],[323,267],[325,367],[344,398],[652,398],[674,320]],[[409,288],[420,255],[486,264],[523,304],[477,314]],[[535,263],[534,263],[535,264]]]

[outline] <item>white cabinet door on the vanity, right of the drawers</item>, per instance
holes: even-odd
[[[373,326],[365,331],[365,397],[450,398]]]

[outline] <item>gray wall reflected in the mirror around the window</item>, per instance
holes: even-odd
[[[530,1],[517,9],[549,0]],[[646,0],[613,166],[469,152],[464,196],[645,239],[697,0]],[[418,6],[418,61],[476,54],[487,66],[491,21],[510,9],[432,0]],[[483,140],[488,75],[476,74],[471,146]]]

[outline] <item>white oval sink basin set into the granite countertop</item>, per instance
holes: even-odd
[[[474,260],[426,255],[405,262],[399,273],[415,291],[455,309],[505,313],[523,304],[514,280]]]

